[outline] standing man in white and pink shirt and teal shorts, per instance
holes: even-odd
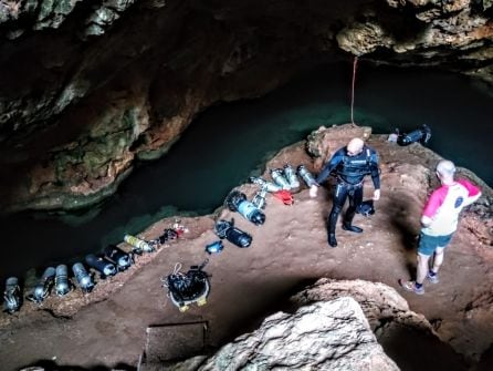
[[[437,176],[441,187],[433,190],[421,216],[421,234],[418,246],[418,271],[416,281],[399,284],[408,291],[424,293],[424,279],[438,284],[438,270],[443,262],[443,251],[459,223],[461,210],[481,197],[481,190],[465,179],[454,181],[455,166],[450,161],[440,161]],[[432,268],[429,259],[433,255]]]

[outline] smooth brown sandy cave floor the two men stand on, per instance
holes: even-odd
[[[374,146],[382,162],[399,159],[400,150],[389,150],[380,142]],[[293,147],[275,161],[308,164],[311,158],[301,147]],[[235,225],[253,236],[252,246],[245,249],[224,241],[221,254],[208,256],[206,245],[218,239],[213,216],[181,218],[189,233],[138,258],[135,266],[99,282],[93,292],[50,296],[41,306],[24,302],[20,312],[1,315],[0,369],[17,370],[41,360],[61,367],[132,369],[143,352],[148,326],[207,321],[207,344],[218,347],[256,328],[262,318],[282,309],[289,296],[321,277],[358,278],[396,288],[411,310],[433,323],[443,341],[478,361],[493,342],[493,249],[471,231],[471,223],[462,220],[445,253],[440,284],[427,285],[424,296],[400,289],[397,280],[415,271],[422,189],[402,194],[396,179],[382,173],[377,213],[368,218],[356,216],[354,224],[365,229],[361,235],[339,226],[337,248],[326,243],[325,219],[331,208],[326,188],[312,199],[302,187],[293,206],[269,195],[262,226],[237,213],[218,210],[220,218],[234,217]],[[244,185],[241,189],[252,195],[256,188]],[[371,182],[367,182],[365,198],[371,192]],[[143,236],[156,238],[172,221],[161,220]],[[177,262],[186,271],[207,257],[208,303],[181,313],[166,297],[160,279]]]

